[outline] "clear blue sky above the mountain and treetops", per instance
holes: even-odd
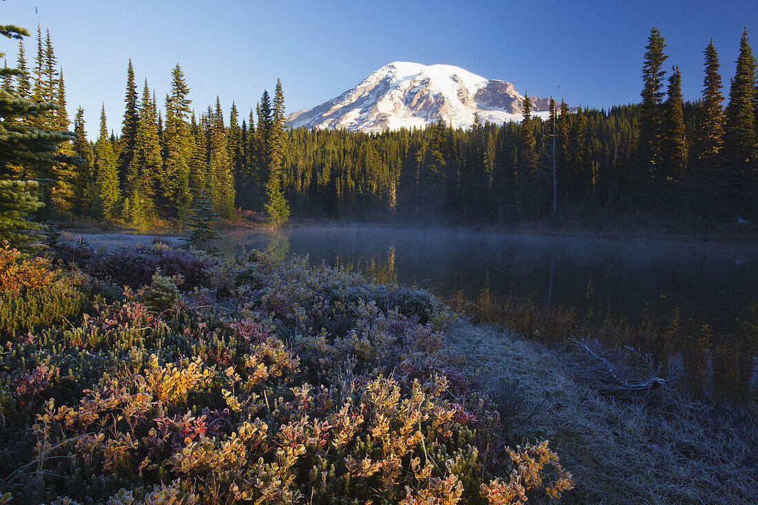
[[[90,137],[103,102],[108,128],[121,129],[129,58],[139,89],[147,77],[161,103],[178,62],[197,111],[218,95],[225,114],[232,100],[246,114],[277,77],[289,112],[337,96],[390,61],[454,64],[570,105],[637,102],[653,25],[666,36],[666,63],[680,67],[685,99],[700,96],[711,37],[727,88],[746,25],[758,52],[758,0],[5,0],[0,11],[0,24],[49,28],[70,117],[82,105]],[[31,59],[33,37],[26,44]],[[0,47],[14,65],[14,42]]]

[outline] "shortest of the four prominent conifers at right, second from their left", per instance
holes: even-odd
[[[684,141],[684,108],[681,96],[681,72],[672,67],[664,104],[661,140],[662,180],[680,181],[687,165],[687,144]]]

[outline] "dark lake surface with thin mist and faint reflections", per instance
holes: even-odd
[[[701,391],[758,387],[758,244],[607,239],[384,227],[233,231],[222,249],[310,256],[441,296],[485,288],[504,300],[574,307],[661,328],[644,344]],[[552,279],[552,281],[551,281]]]

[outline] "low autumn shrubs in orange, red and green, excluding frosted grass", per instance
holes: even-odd
[[[161,245],[5,248],[0,268],[0,503],[540,503],[574,487],[523,406],[461,367],[453,314],[423,290]]]

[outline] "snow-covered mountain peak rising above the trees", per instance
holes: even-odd
[[[395,61],[337,98],[293,112],[287,124],[373,132],[424,127],[442,119],[466,128],[474,123],[475,113],[483,122],[521,121],[523,102],[504,80],[486,79],[453,65]],[[548,99],[531,102],[535,115],[547,117]]]

